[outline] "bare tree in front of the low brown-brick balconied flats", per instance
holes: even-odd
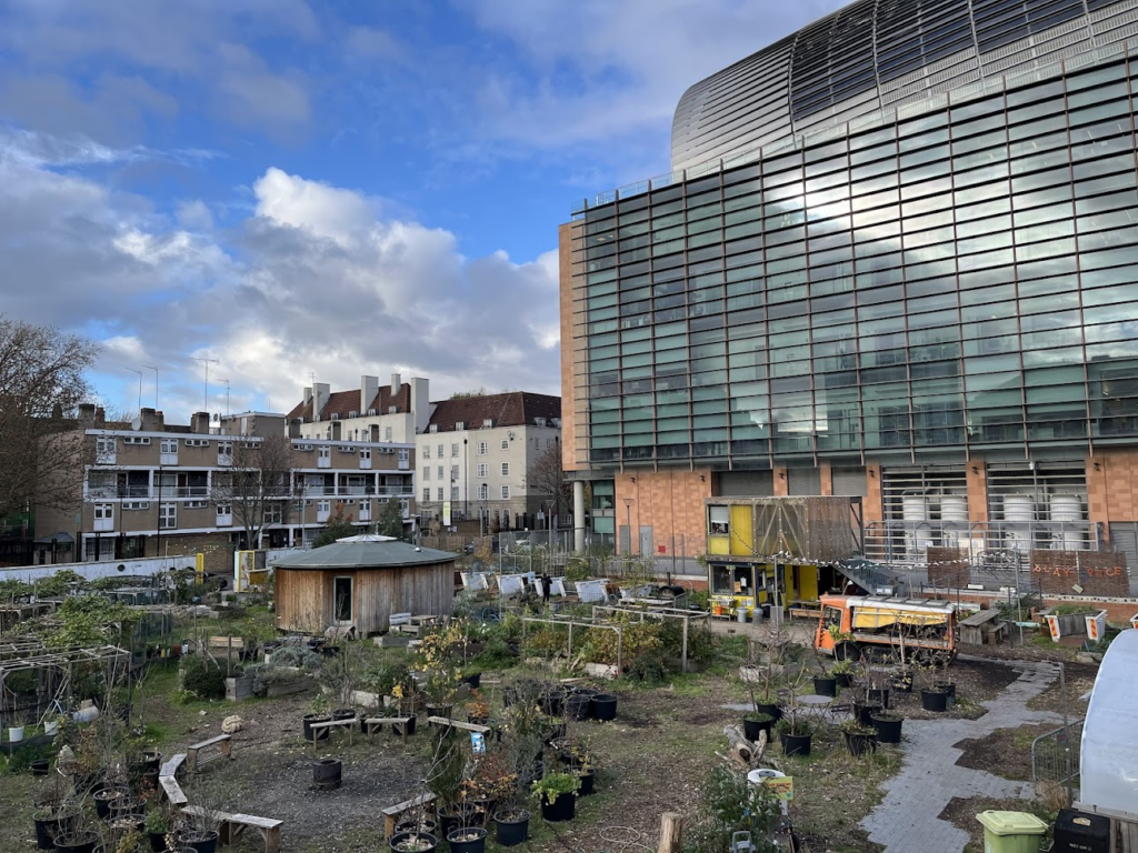
[[[233,439],[232,464],[214,475],[209,498],[230,508],[247,548],[259,547],[265,530],[288,523],[299,492],[295,467],[287,436]]]

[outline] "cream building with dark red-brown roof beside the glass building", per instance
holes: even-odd
[[[560,447],[561,399],[506,391],[431,407],[427,430],[415,437],[423,522],[481,517],[487,528],[545,528],[556,507],[529,482],[529,471]]]

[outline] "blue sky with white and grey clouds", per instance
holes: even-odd
[[[0,313],[109,412],[560,394],[558,225],[839,0],[0,0]],[[208,376],[206,374],[208,371]]]

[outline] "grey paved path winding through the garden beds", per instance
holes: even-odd
[[[1052,663],[1025,661],[1011,665],[1023,674],[997,698],[983,703],[988,713],[979,720],[905,721],[901,772],[882,786],[885,798],[861,821],[869,840],[883,844],[885,853],[959,853],[964,850],[967,833],[937,818],[953,797],[1032,796],[1031,782],[1009,781],[983,770],[957,767],[963,750],[953,747],[964,738],[984,737],[996,729],[1062,723],[1058,714],[1026,707],[1028,699],[1042,693],[1058,677],[1058,668]]]

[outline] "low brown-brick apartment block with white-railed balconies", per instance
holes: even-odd
[[[204,553],[207,565],[225,571],[237,548],[311,541],[338,505],[363,524],[398,499],[410,520],[413,444],[289,439],[284,424],[284,415],[248,412],[218,419],[216,428],[207,413],[173,425],[152,408],[133,424],[107,423],[101,409],[83,405],[67,436],[85,445],[88,459],[75,480],[74,504],[40,507],[38,529],[74,535],[81,560]],[[244,455],[273,440],[284,448],[288,473],[264,500],[258,541],[249,543],[251,516],[224,496],[237,494],[228,483],[242,458],[251,458]]]

